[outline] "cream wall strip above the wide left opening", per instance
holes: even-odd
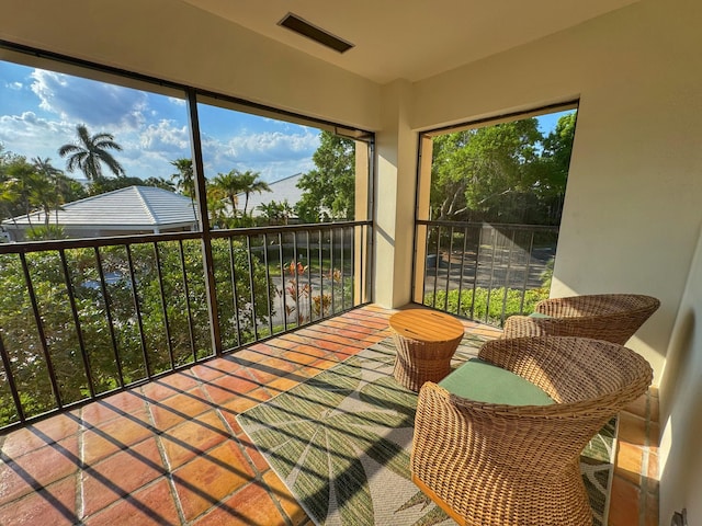
[[[377,84],[185,2],[3,0],[1,10],[1,39],[362,129],[380,124]]]

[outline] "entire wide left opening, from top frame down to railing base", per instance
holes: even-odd
[[[369,301],[372,135],[24,52],[0,45],[0,428]]]

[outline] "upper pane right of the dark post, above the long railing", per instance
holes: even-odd
[[[213,228],[354,218],[356,144],[366,142],[226,106],[197,104]]]

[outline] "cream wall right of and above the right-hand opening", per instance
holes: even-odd
[[[579,96],[552,295],[661,300],[630,341],[660,385],[660,524],[702,524],[700,27],[698,0],[643,0],[414,90],[415,128]]]

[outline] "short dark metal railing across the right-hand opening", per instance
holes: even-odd
[[[414,299],[501,327],[548,297],[558,227],[417,221]]]

